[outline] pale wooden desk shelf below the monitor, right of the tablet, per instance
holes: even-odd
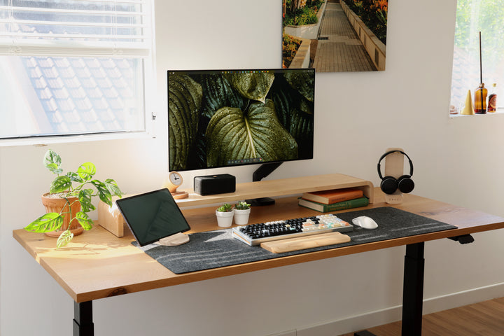
[[[356,177],[343,174],[326,174],[314,176],[293,177],[290,179],[276,179],[270,181],[258,181],[238,183],[235,193],[202,196],[194,190],[182,190],[189,193],[189,197],[176,200],[179,207],[193,207],[215,203],[237,202],[260,197],[281,197],[297,195],[313,191],[359,188],[369,198],[370,203],[374,200],[373,185],[370,181],[357,179]]]

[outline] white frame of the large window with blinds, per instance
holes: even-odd
[[[89,0],[88,0],[89,1]],[[95,0],[90,0],[95,1]],[[100,1],[100,0],[97,0]],[[105,0],[106,1],[106,0]],[[110,0],[111,3],[116,0]],[[123,2],[128,2],[125,0]],[[135,139],[155,137],[155,112],[153,101],[155,99],[155,24],[154,24],[154,0],[133,0],[146,6],[145,38],[139,43],[110,43],[107,41],[88,43],[85,41],[51,41],[42,39],[21,38],[22,36],[8,36],[0,32],[0,55],[15,56],[53,56],[53,57],[115,57],[127,58],[141,57],[143,59],[143,97],[144,97],[144,130],[143,131],[120,131],[103,132],[98,134],[69,134],[47,135],[20,138],[0,138],[1,146],[22,146],[38,144],[71,143],[80,141],[101,141],[107,139]],[[119,0],[119,2],[121,2]],[[12,2],[8,0],[8,4]],[[1,6],[0,10],[8,6]],[[1,22],[0,24],[5,23]],[[118,37],[118,36],[115,36]]]

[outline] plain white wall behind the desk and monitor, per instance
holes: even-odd
[[[416,195],[503,216],[504,116],[447,116],[456,0],[390,2],[386,71],[317,73],[315,158],[286,163],[270,178],[339,172],[378,185],[377,159],[401,147],[414,161]],[[51,146],[65,167],[90,160],[126,192],[153,190],[165,178],[167,69],[281,64],[281,0],[155,5],[158,138]],[[42,211],[39,195],[51,179],[41,165],[46,150],[0,148],[3,336],[71,335],[71,298],[12,238]],[[231,173],[246,182],[252,170]],[[183,177],[190,188],[193,173]],[[467,246],[426,244],[426,311],[504,296],[504,232],[474,237]],[[304,334],[336,335],[393,321],[403,255],[390,248],[97,300],[95,335],[271,335],[342,320],[332,333]]]

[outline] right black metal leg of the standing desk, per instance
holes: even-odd
[[[423,242],[406,246],[402,287],[402,336],[421,336],[424,246]]]

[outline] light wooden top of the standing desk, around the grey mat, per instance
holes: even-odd
[[[333,248],[325,251],[291,255],[284,258],[249,262],[185,274],[172,273],[139,248],[134,247],[131,244],[134,238],[129,230],[125,230],[125,232],[128,232],[125,234],[125,237],[118,238],[99,225],[94,225],[92,230],[74,237],[69,245],[59,250],[55,248],[55,238],[47,237],[43,234],[26,232],[20,229],[13,231],[13,237],[69,293],[74,301],[85,302],[141,290],[174,286],[181,283],[332,258],[339,255],[373,251],[381,248],[415,244],[422,241],[504,228],[504,218],[502,217],[463,207],[456,207],[416,195],[405,195],[405,201],[402,204],[386,204],[384,202],[384,194],[379,191],[379,188],[374,189],[374,203],[368,207],[359,209],[386,206],[396,207],[413,214],[419,214],[437,221],[456,225],[458,229]],[[183,209],[183,214],[192,228],[188,233],[218,230],[214,210],[214,207]],[[348,211],[354,210],[350,209]],[[249,223],[297,218],[313,214],[319,213],[299,207],[297,205],[297,197],[285,197],[276,200],[275,205],[253,208]]]

